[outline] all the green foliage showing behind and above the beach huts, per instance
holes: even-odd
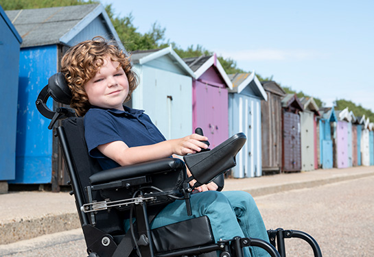
[[[50,8],[50,7],[58,7],[58,6],[68,6],[68,5],[82,5],[82,4],[89,4],[89,3],[100,3],[100,1],[94,0],[0,0],[0,5],[4,10],[20,10],[20,9],[34,9],[34,8]],[[168,45],[172,44],[174,50],[181,58],[189,58],[189,57],[197,57],[197,56],[211,56],[213,52],[204,49],[201,45],[191,45],[187,47],[187,49],[181,49],[176,45],[175,42],[170,42],[170,40],[165,40],[165,27],[161,27],[158,23],[154,23],[150,30],[145,33],[141,34],[137,31],[137,27],[132,23],[134,17],[132,14],[128,14],[125,17],[114,16],[114,12],[112,9],[112,5],[106,5],[106,12],[112,21],[115,30],[124,44],[128,51],[137,51],[137,50],[149,50],[149,49],[161,49],[165,48]],[[223,58],[222,56],[218,57],[224,71],[227,74],[232,73],[248,73],[248,71],[244,71],[237,67],[237,62],[231,58]],[[259,74],[256,74],[260,81],[272,80],[272,76],[270,77],[262,77]],[[309,97],[302,91],[296,92],[292,88],[288,86],[282,86],[283,90],[286,93],[294,94],[296,93],[297,97]],[[325,103],[314,97],[314,101],[316,101],[318,107],[322,107]],[[334,103],[336,106],[336,110],[343,110],[344,108],[348,107],[349,110],[352,110],[356,117],[360,117],[365,115],[365,117],[369,117],[371,121],[374,121],[374,114],[371,110],[367,110],[362,106],[357,106],[352,101],[347,101],[344,99],[336,100]]]

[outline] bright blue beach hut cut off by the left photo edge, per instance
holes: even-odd
[[[16,174],[16,117],[19,84],[19,51],[22,42],[0,5],[0,188],[8,191],[6,180]],[[5,125],[6,124],[6,125]],[[0,189],[1,191],[1,189]]]

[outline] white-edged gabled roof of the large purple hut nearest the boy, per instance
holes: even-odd
[[[213,54],[213,56],[199,56],[184,58],[183,60],[191,68],[191,70],[194,71],[196,79],[198,79],[211,66],[215,66],[222,79],[224,79],[226,85],[230,89],[233,89],[233,84],[231,83],[229,76],[226,74],[226,71],[224,71],[220,61],[217,59],[217,55],[215,53]]]

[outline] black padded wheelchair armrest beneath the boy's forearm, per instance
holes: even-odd
[[[185,167],[185,162],[183,162],[183,160],[178,158],[164,158],[100,171],[91,175],[89,182],[91,184],[101,184],[126,178],[135,178],[142,175],[151,175],[159,172],[176,171],[183,169],[183,167]]]

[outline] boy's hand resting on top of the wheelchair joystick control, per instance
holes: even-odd
[[[201,141],[207,141],[206,136],[200,136],[198,134],[191,134],[184,138],[174,139],[173,141],[173,153],[179,156],[185,156],[186,154],[195,154],[201,149],[207,149],[208,145]]]

